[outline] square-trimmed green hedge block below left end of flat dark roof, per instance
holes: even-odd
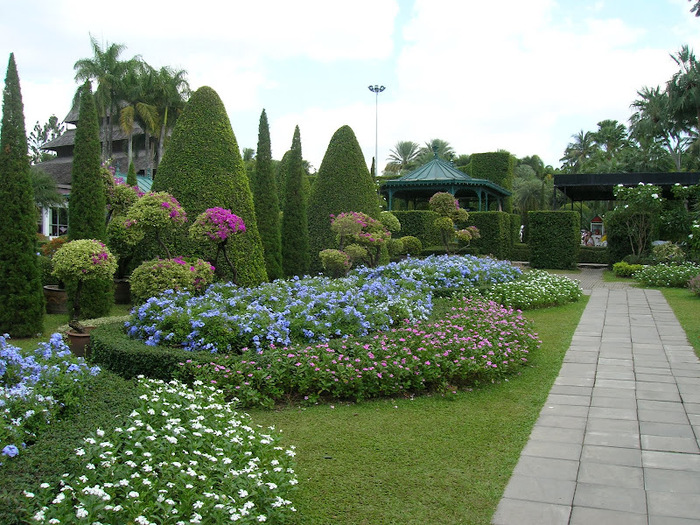
[[[581,245],[580,219],[575,211],[528,212],[530,266],[576,268]]]

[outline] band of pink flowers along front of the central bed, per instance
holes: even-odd
[[[513,371],[539,348],[519,311],[481,298],[462,298],[443,319],[404,322],[371,337],[272,347],[209,364],[181,363],[244,405],[270,406],[294,397],[363,400],[455,390]]]

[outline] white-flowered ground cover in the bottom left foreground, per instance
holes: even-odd
[[[296,512],[293,447],[253,428],[220,391],[139,378],[141,405],[98,429],[59,485],[26,492],[35,523],[285,523]]]

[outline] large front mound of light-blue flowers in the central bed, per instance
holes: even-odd
[[[432,310],[428,286],[389,276],[316,276],[277,280],[254,288],[217,283],[202,296],[168,291],[149,299],[126,323],[148,345],[238,351],[293,342],[325,342],[366,335]]]

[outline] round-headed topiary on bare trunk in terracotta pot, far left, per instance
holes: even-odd
[[[100,241],[79,239],[64,244],[53,256],[53,274],[63,282],[75,283],[76,292],[70,312],[70,326],[67,335],[71,350],[76,355],[85,354],[89,330],[77,321],[80,318],[80,292],[85,281],[91,279],[112,279],[117,262],[112,253]]]

